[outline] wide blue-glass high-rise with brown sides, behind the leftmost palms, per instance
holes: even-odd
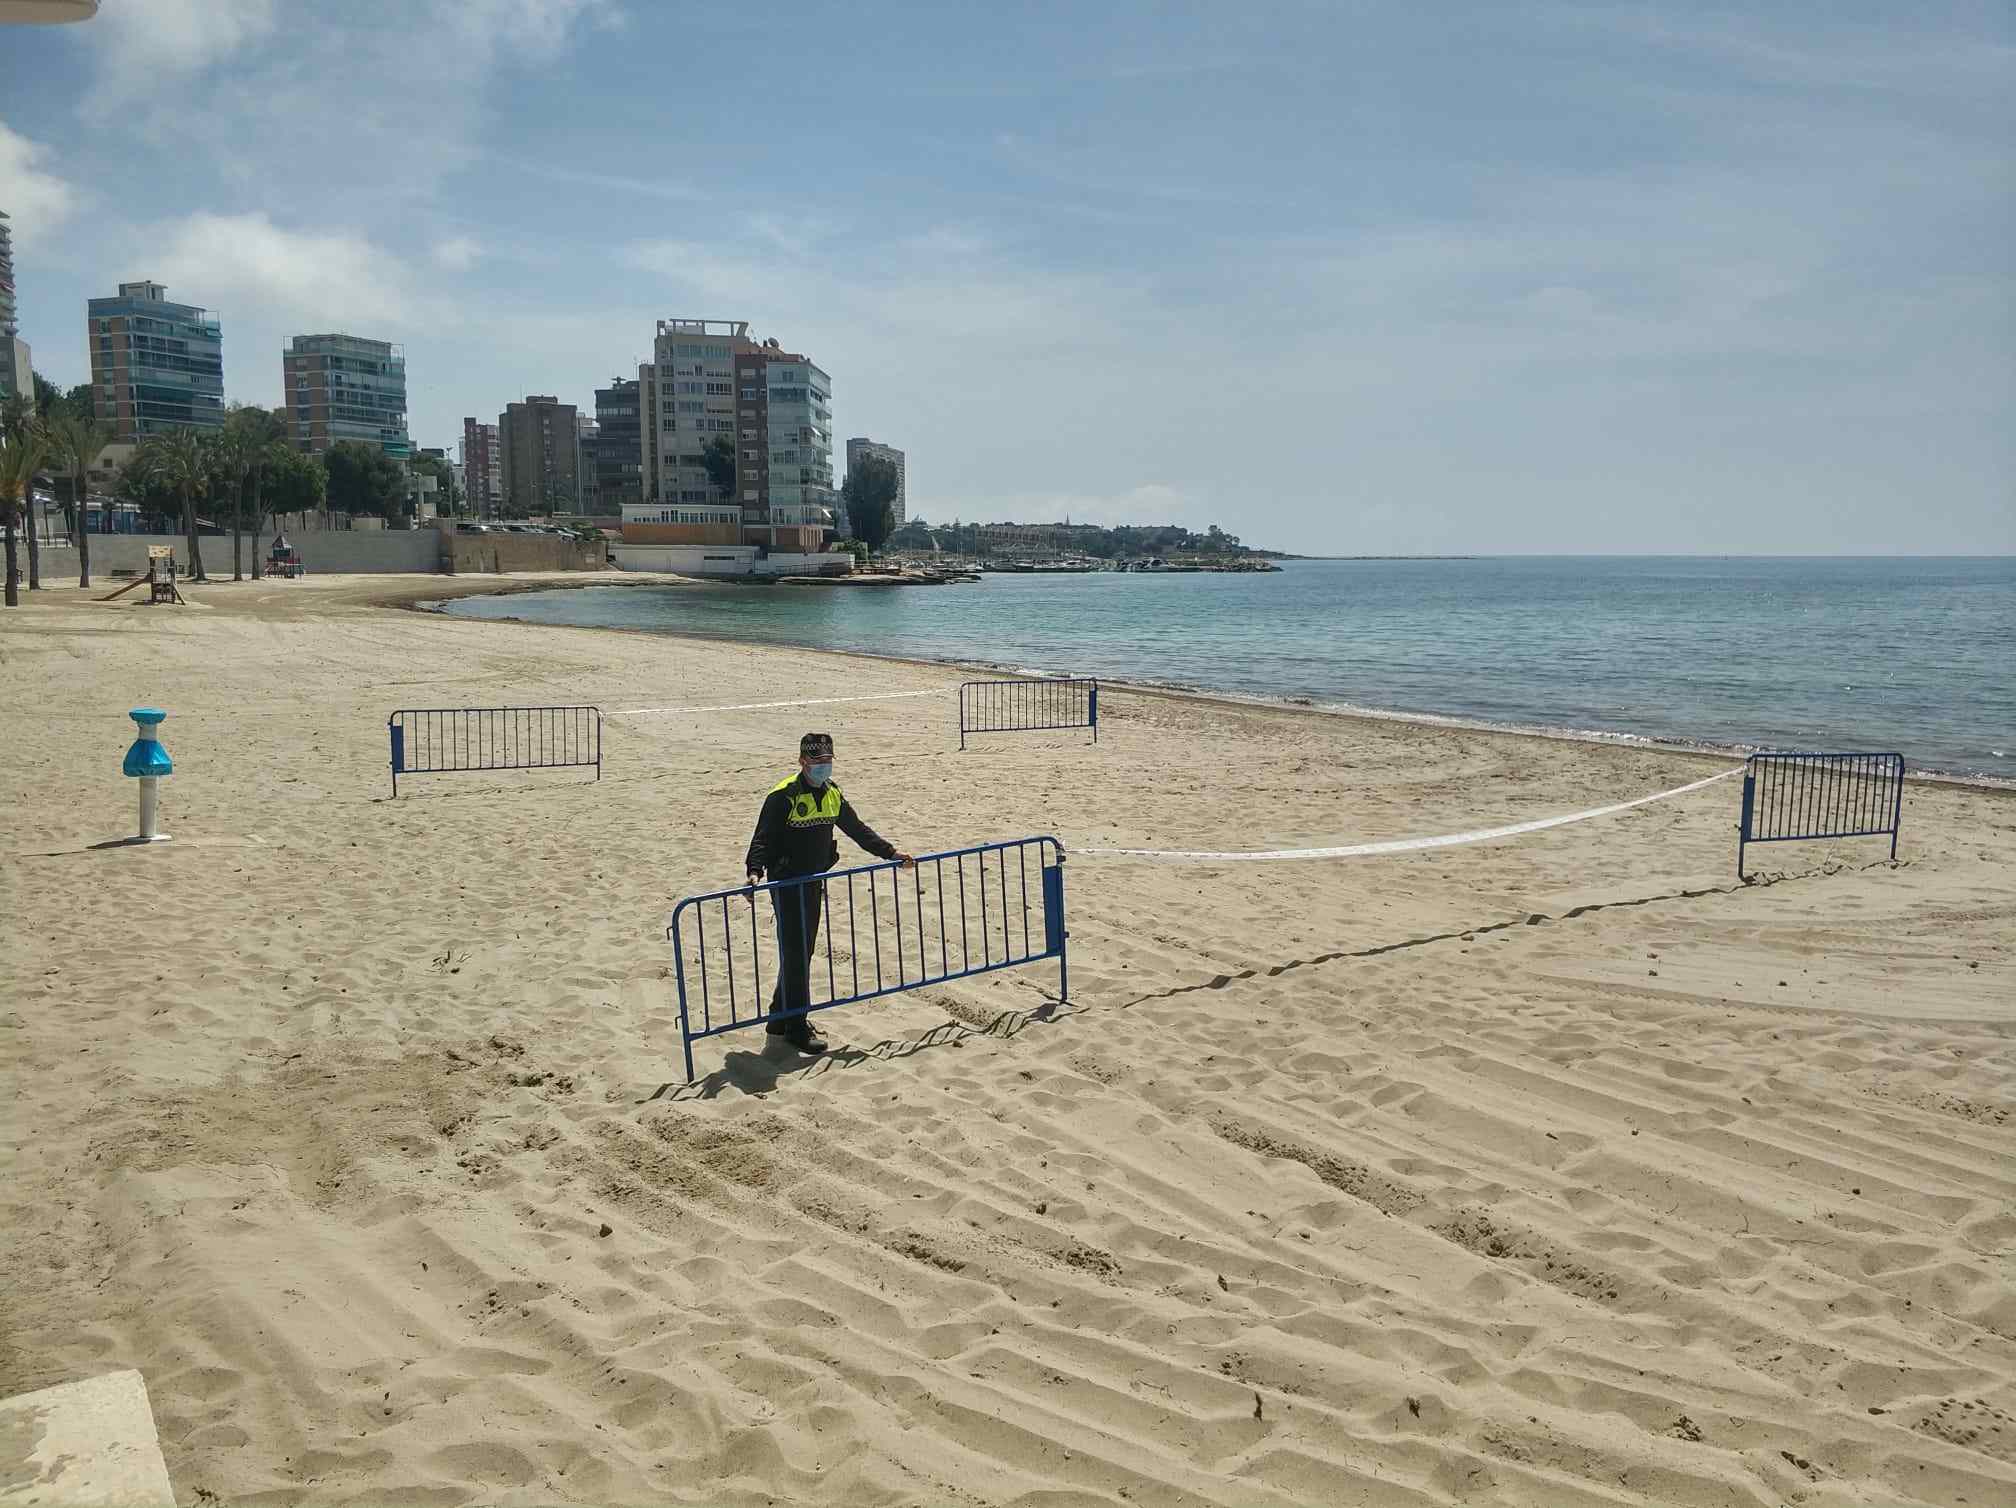
[[[224,329],[196,304],[171,304],[159,282],[121,282],[87,304],[91,387],[115,444],[163,429],[224,423]]]

